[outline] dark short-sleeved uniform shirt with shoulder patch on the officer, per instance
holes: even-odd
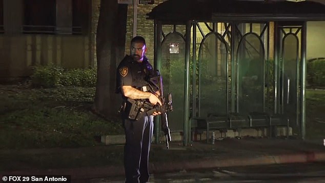
[[[115,92],[120,93],[122,86],[132,86],[136,89],[146,86],[152,74],[153,68],[147,57],[144,56],[143,62],[138,63],[126,55],[117,67]]]

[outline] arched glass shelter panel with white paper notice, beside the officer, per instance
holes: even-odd
[[[170,53],[171,44],[178,44],[178,53]],[[178,33],[168,34],[162,42],[161,63],[164,96],[171,93],[173,97],[173,111],[168,113],[169,126],[173,131],[180,131],[184,121],[185,40]]]

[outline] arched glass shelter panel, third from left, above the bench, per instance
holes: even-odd
[[[245,35],[238,47],[238,112],[263,112],[263,50],[256,34]]]

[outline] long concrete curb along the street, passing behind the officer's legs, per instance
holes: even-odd
[[[325,152],[302,152],[293,154],[265,155],[256,157],[237,158],[203,158],[191,161],[176,162],[152,162],[150,163],[151,173],[175,172],[181,170],[193,170],[216,167],[250,166],[250,165],[271,165],[288,164],[294,162],[325,161]],[[105,167],[82,167],[71,169],[48,169],[48,170],[22,170],[0,172],[0,174],[57,174],[71,175],[72,179],[85,179],[95,177],[124,176],[123,166]]]

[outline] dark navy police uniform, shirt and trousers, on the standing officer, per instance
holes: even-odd
[[[153,68],[144,57],[138,63],[126,55],[117,67],[116,93],[120,93],[122,86],[132,86],[140,89],[148,83],[146,79],[153,73]],[[141,115],[137,120],[128,118],[130,103],[122,95],[126,104],[122,113],[126,143],[124,148],[124,168],[126,182],[147,182],[149,179],[149,151],[153,134],[153,116]]]

